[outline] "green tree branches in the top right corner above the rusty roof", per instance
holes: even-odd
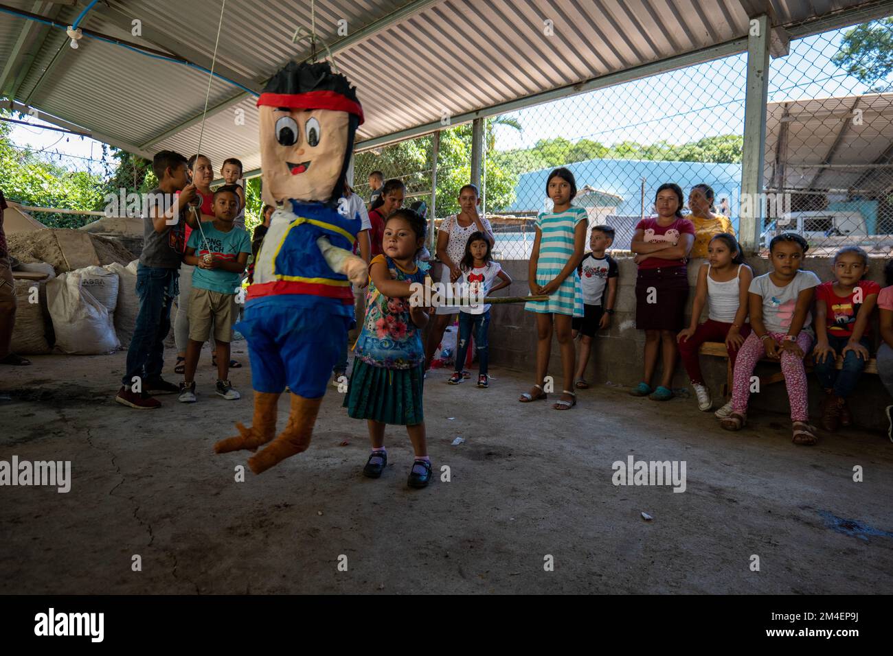
[[[874,91],[888,89],[893,72],[893,16],[847,29],[831,62]]]

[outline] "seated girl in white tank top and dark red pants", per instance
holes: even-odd
[[[744,263],[741,246],[731,235],[714,235],[707,245],[707,262],[697,272],[695,303],[691,309],[691,324],[677,337],[685,370],[689,372],[691,386],[697,394],[697,407],[708,411],[713,407],[710,390],[701,375],[697,350],[705,342],[725,342],[731,366],[735,366],[739,347],[750,334],[747,320],[747,290],[754,272]],[[698,325],[704,304],[707,304],[707,320]],[[726,403],[717,417],[727,417],[731,403]]]

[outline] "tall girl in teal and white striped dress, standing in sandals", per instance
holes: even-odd
[[[552,350],[553,315],[555,336],[561,346],[564,386],[561,399],[552,407],[569,410],[577,404],[573,390],[574,348],[571,320],[583,316],[583,295],[577,265],[583,258],[588,220],[586,210],[573,207],[577,183],[570,170],[561,168],[549,173],[546,193],[555,206],[552,212],[539,212],[537,237],[528,265],[530,294],[548,295],[547,301],[530,301],[524,309],[537,312],[537,382],[518,401],[530,403],[547,398],[543,381]]]

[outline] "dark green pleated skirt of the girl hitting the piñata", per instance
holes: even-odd
[[[413,369],[374,367],[354,360],[344,407],[354,419],[374,419],[385,424],[421,424],[422,366]]]

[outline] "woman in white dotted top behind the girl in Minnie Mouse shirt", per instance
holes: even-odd
[[[478,213],[480,194],[478,187],[465,185],[459,189],[459,207],[461,212],[447,217],[438,230],[438,260],[443,262],[439,282],[450,285],[462,276],[459,262],[465,254],[468,238],[475,232],[483,233],[492,247],[496,243],[490,222]],[[431,358],[438,350],[444,330],[455,320],[459,312],[458,305],[441,305],[429,323],[428,339],[425,343],[425,370],[431,366]],[[464,375],[464,372],[463,372]]]

